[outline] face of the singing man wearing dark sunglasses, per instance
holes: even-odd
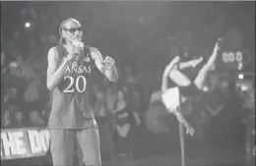
[[[75,39],[82,41],[83,30],[80,23],[76,20],[69,20],[63,27],[63,37],[68,43]]]

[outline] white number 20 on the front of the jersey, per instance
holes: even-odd
[[[64,78],[64,81],[65,81],[66,79],[69,79],[69,80],[70,80],[70,83],[69,83],[69,85],[67,86],[67,88],[64,89],[63,92],[74,92],[74,91],[75,91],[75,87],[71,88],[71,86],[72,86],[73,83],[75,82],[75,81],[74,81],[74,78],[72,78],[72,77],[70,77],[70,76],[66,76],[66,77]],[[82,81],[83,81],[83,89],[80,89],[80,87],[79,87],[79,81],[80,81],[80,79],[82,79]],[[84,76],[79,76],[79,77],[76,79],[76,89],[77,89],[77,91],[78,91],[78,92],[84,92],[84,91],[86,90],[86,88],[87,88],[87,80],[86,80],[86,78],[85,78]]]

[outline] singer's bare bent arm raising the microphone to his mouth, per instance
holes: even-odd
[[[57,86],[58,83],[63,79],[65,74],[65,69],[67,65],[69,64],[70,60],[69,58],[65,59],[59,68],[57,68],[57,48],[53,47],[48,52],[48,67],[47,67],[47,88],[49,90],[53,90],[55,86]]]

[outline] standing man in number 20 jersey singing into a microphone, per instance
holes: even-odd
[[[82,27],[75,19],[63,21],[59,33],[59,45],[48,52],[47,68],[47,88],[53,90],[48,122],[53,166],[72,166],[75,147],[80,165],[100,166],[98,129],[87,87],[95,67],[116,83],[114,60],[103,60],[96,48],[84,46]]]

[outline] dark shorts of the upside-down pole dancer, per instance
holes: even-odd
[[[179,92],[184,97],[192,97],[195,95],[200,95],[202,93],[202,90],[200,90],[195,83],[190,83],[187,86],[178,86]]]

